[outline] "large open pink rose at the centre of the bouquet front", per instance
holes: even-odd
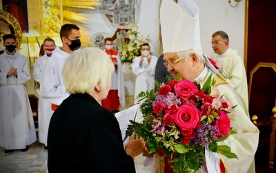
[[[193,104],[183,104],[174,114],[175,124],[181,130],[195,129],[201,119],[201,112]]]

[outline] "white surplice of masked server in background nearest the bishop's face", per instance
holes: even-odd
[[[155,89],[155,66],[157,64],[157,57],[152,56],[150,63],[148,63],[147,58],[139,64],[141,61],[141,56],[135,57],[133,63],[131,64],[132,73],[136,75],[135,80],[135,92],[134,92],[134,102],[137,103],[136,99],[141,91],[150,91]]]

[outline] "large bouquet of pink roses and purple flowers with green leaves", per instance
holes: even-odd
[[[237,158],[230,147],[217,144],[230,135],[228,115],[235,106],[219,95],[211,75],[206,81],[159,84],[159,91],[141,92],[138,98],[144,120],[130,120],[126,133],[142,136],[150,152],[170,156],[173,172],[197,172],[206,147]]]

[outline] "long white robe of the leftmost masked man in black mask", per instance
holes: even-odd
[[[7,76],[11,68],[15,75]],[[0,146],[24,149],[37,140],[25,83],[30,80],[27,57],[6,51],[0,55]]]

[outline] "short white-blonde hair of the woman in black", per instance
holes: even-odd
[[[99,48],[83,48],[68,57],[62,77],[68,93],[93,93],[99,83],[106,89],[114,65],[110,57]]]

